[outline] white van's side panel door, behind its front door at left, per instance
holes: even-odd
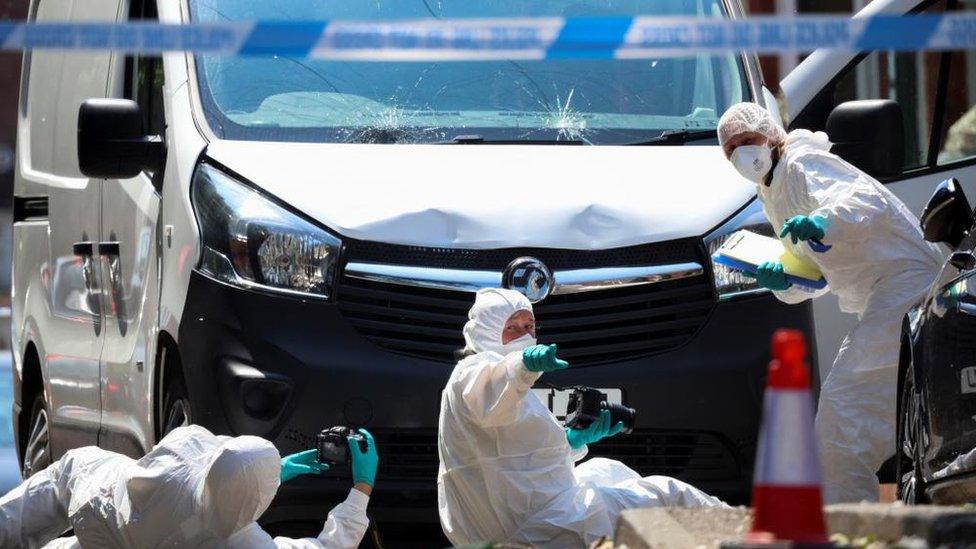
[[[115,21],[118,0],[42,0],[37,20]],[[94,444],[101,419],[99,355],[104,322],[93,247],[101,238],[102,182],[81,175],[75,149],[78,107],[104,97],[110,54],[33,52],[25,113],[28,183],[48,190],[50,316],[39,321],[37,342],[50,410],[50,443],[58,456]]]

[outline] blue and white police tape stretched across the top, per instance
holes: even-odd
[[[0,49],[188,51],[360,61],[599,59],[749,51],[976,48],[976,13],[430,19],[389,22],[0,23]]]

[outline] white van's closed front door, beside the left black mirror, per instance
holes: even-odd
[[[130,20],[158,20],[155,0],[133,0]],[[165,133],[162,59],[118,54],[113,97],[136,101],[150,135]],[[99,445],[133,457],[155,442],[152,371],[159,297],[157,223],[163,173],[106,180],[99,267],[105,311]]]

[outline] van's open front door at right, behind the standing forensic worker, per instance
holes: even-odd
[[[943,13],[972,10],[957,0],[904,2],[875,0],[865,12]],[[905,204],[920,214],[935,186],[956,177],[976,196],[976,64],[973,52],[811,54],[782,82],[791,128],[822,130],[834,107],[853,99],[893,99],[905,123],[905,162],[895,177],[882,179]],[[970,129],[971,127],[971,129]],[[854,315],[841,313],[832,295],[814,301],[821,377],[830,370]]]

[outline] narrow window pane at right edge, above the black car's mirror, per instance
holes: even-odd
[[[976,12],[976,1],[960,2],[959,7]],[[949,53],[944,120],[938,164],[976,158],[976,50]]]

